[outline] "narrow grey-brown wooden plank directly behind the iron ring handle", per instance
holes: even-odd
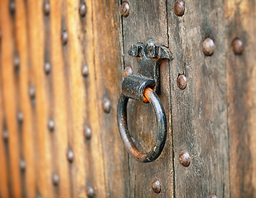
[[[167,7],[166,1],[131,0],[129,5],[130,15],[123,17],[123,68],[131,66],[133,73],[138,74],[138,61],[128,55],[128,50],[132,44],[145,44],[148,39],[154,40],[156,45],[168,46]],[[161,156],[152,163],[138,163],[129,156],[128,197],[173,197],[169,78],[168,62],[163,61],[160,66],[161,84],[158,96],[167,115],[167,142]],[[139,149],[148,152],[152,148],[157,137],[157,120],[150,104],[133,100],[128,102],[128,129]],[[155,178],[162,184],[160,195],[152,191],[151,183]]]

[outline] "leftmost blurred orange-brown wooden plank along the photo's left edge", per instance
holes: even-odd
[[[8,154],[9,154],[9,178],[12,190],[10,196],[22,197],[21,171],[20,171],[20,152],[18,140],[17,126],[17,93],[15,87],[15,72],[13,67],[13,55],[15,48],[14,40],[14,24],[9,11],[9,1],[1,2],[1,26],[2,26],[2,59],[1,67],[2,75],[2,98],[5,109],[8,138]],[[4,27],[4,28],[3,28]]]

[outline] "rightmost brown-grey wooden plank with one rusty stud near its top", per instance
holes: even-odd
[[[225,1],[230,197],[256,196],[256,2]],[[244,53],[235,55],[239,38]]]

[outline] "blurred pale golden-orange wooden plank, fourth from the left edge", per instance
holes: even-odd
[[[66,2],[51,1],[51,75],[54,103],[53,120],[55,129],[52,136],[52,148],[56,160],[54,172],[59,176],[59,186],[56,188],[56,196],[70,197],[70,166],[67,160],[69,138],[73,120],[70,115],[70,87],[66,70],[69,66],[68,43],[62,41],[62,32],[68,31]]]

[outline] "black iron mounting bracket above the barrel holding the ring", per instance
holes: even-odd
[[[155,85],[152,88],[157,92],[159,88],[159,66],[162,59],[173,59],[171,50],[163,45],[157,46],[152,39],[149,39],[146,45],[131,45],[128,54],[138,58],[138,75],[153,80]]]

